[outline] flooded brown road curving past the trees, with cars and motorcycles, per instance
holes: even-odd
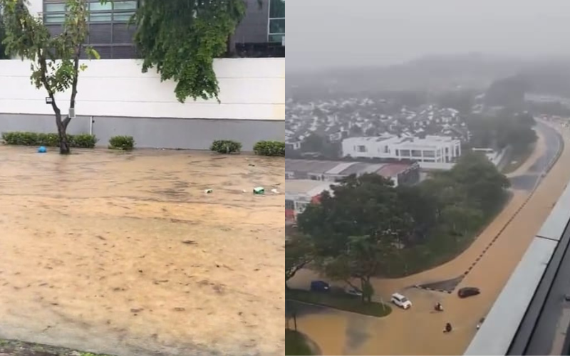
[[[395,290],[403,290],[413,300],[412,310],[393,310],[386,318],[370,318],[336,310],[306,314],[298,318],[299,329],[315,340],[325,355],[461,354],[475,334],[478,320],[491,308],[534,234],[548,216],[551,206],[570,180],[570,169],[566,164],[570,160],[570,136],[566,133],[561,159],[546,174],[536,194],[527,201],[530,183],[521,184],[519,181],[524,179],[516,177],[534,176],[536,182],[549,159],[556,156],[556,147],[559,145],[555,132],[544,126],[540,126],[539,130],[541,140],[537,144],[537,151],[529,158],[530,162],[525,162],[522,169],[517,169],[511,175],[514,179],[512,200],[467,251],[430,271],[406,278],[374,281],[375,290],[383,298],[388,298]],[[507,225],[508,221],[511,223]],[[459,285],[478,286],[482,288],[482,295],[460,300],[455,294],[410,288],[415,284],[457,277],[481,255],[497,234],[499,238]],[[314,276],[303,272],[293,282],[307,283],[311,278]],[[443,303],[444,313],[432,311],[436,301]],[[441,332],[446,322],[454,325],[453,333]]]

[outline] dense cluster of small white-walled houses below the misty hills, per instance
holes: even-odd
[[[328,142],[349,137],[447,136],[466,142],[467,124],[452,108],[423,105],[411,110],[395,108],[388,100],[351,99],[318,103],[287,103],[285,141],[289,150],[301,150],[311,134]]]

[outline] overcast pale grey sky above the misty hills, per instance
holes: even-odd
[[[570,54],[570,0],[287,0],[287,70]]]

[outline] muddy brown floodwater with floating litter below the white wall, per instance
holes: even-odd
[[[0,337],[283,355],[283,183],[283,159],[0,147]]]

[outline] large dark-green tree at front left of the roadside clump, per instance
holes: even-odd
[[[358,279],[371,300],[371,277],[412,234],[413,219],[393,182],[378,174],[351,175],[331,189],[333,195],[323,192],[319,204],[299,215],[299,229],[310,236],[327,276],[347,283]]]

